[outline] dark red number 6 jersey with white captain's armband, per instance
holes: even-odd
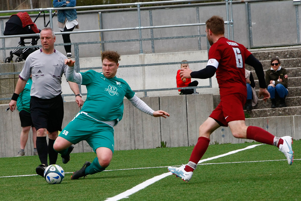
[[[245,60],[250,55],[251,52],[245,46],[225,37],[219,38],[210,47],[207,65],[217,68],[216,79],[220,97],[232,93],[247,96]]]

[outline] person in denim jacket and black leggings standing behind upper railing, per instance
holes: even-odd
[[[76,0],[54,0],[52,2],[54,8],[61,7],[74,7],[76,6]],[[74,28],[79,29],[79,24],[77,21],[76,9],[66,9],[59,10],[57,12],[57,27],[61,32],[73,31]],[[70,43],[70,34],[62,34],[64,43]],[[67,53],[67,58],[72,58],[71,45],[66,45],[65,51]]]

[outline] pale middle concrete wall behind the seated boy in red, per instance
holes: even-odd
[[[170,53],[154,53],[154,54],[138,54],[138,55],[122,55],[119,65],[132,64],[153,64],[153,63],[168,63],[175,61],[207,61],[207,51],[190,51],[190,52],[170,52]],[[0,73],[7,72],[20,72],[22,70],[24,62],[19,63],[0,63]],[[189,67],[193,71],[198,71],[206,67],[207,62],[189,64]],[[80,58],[80,68],[99,67],[101,68],[101,58]],[[145,66],[145,67],[129,67],[118,68],[117,77],[126,80],[131,86],[132,90],[142,89],[162,89],[162,88],[175,88],[176,73],[180,69],[180,64],[175,65],[158,65],[158,66]],[[101,72],[101,69],[95,71]],[[84,71],[81,71],[84,72]],[[14,79],[15,77],[15,79]],[[15,85],[18,80],[18,75],[5,75],[0,76],[0,98],[9,98],[14,93]],[[209,79],[192,79],[199,82],[198,86],[208,86]],[[81,86],[82,93],[86,93],[85,86]],[[73,94],[66,81],[65,76],[62,77],[62,92],[63,94]],[[199,93],[219,93],[218,84],[215,76],[212,77],[212,88],[197,89]],[[147,96],[167,96],[178,95],[178,90],[169,91],[154,91],[148,92]],[[137,93],[138,97],[143,97],[144,93]],[[83,97],[85,99],[85,96]],[[74,96],[64,97],[64,100],[74,100]],[[0,101],[0,104],[9,103],[10,100]]]

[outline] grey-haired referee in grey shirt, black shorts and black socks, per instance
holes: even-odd
[[[11,111],[15,110],[17,98],[32,75],[30,113],[37,130],[36,147],[41,161],[41,165],[36,168],[36,173],[44,177],[44,170],[48,166],[48,155],[49,165],[57,161],[57,152],[53,149],[53,143],[57,138],[58,130],[62,130],[64,105],[61,83],[62,75],[64,73],[66,76],[68,66],[64,64],[64,59],[67,57],[54,49],[55,35],[51,28],[45,27],[40,33],[40,39],[42,49],[36,50],[27,57],[9,107]],[[82,106],[83,100],[78,85],[74,82],[68,83],[76,94],[77,105]],[[72,151],[73,146],[70,146],[70,149]]]

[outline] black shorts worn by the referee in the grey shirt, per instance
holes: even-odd
[[[36,130],[46,128],[48,132],[62,131],[64,104],[61,95],[51,99],[30,98],[30,114]]]

